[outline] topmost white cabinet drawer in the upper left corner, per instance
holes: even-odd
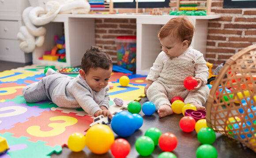
[[[17,0],[0,0],[0,11],[17,12],[18,5]]]

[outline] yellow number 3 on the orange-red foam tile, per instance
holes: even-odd
[[[65,122],[50,123],[48,126],[53,128],[50,131],[41,131],[40,126],[30,126],[29,128],[26,129],[26,132],[32,136],[37,136],[37,137],[57,136],[65,131],[66,126],[75,125],[77,122],[76,118],[73,118],[70,116],[55,116],[55,117],[49,118],[49,120],[51,121],[64,120]]]

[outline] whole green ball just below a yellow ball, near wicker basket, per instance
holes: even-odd
[[[209,127],[203,127],[199,130],[197,139],[201,144],[213,144],[216,139],[216,134],[213,129]]]

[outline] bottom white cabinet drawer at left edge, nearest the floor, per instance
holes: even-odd
[[[27,63],[32,61],[32,54],[20,50],[18,40],[0,39],[0,60]]]

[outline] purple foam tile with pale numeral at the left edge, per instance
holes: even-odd
[[[18,122],[26,122],[31,116],[37,117],[43,111],[50,111],[50,108],[41,109],[38,106],[29,107],[26,104],[15,104],[13,101],[0,102],[0,130],[11,129]]]

